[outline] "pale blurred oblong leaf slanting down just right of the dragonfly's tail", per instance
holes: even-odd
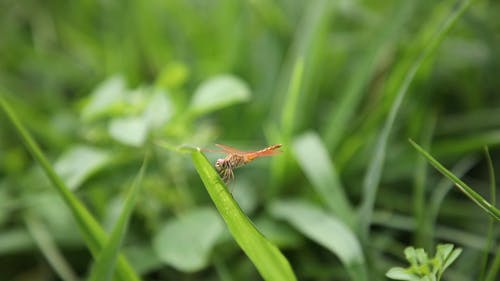
[[[294,140],[292,150],[321,199],[343,223],[352,225],[352,206],[347,200],[336,169],[328,158],[328,150],[318,134],[308,132],[300,135]]]

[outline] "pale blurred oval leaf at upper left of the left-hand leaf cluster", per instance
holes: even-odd
[[[122,76],[108,78],[90,94],[89,101],[82,109],[82,118],[90,121],[108,113],[114,105],[125,99],[125,92],[125,79]]]

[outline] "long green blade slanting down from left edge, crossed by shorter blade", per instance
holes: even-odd
[[[69,190],[63,180],[56,174],[54,168],[50,165],[47,158],[43,155],[40,147],[31,137],[30,133],[22,125],[21,121],[4,99],[3,94],[0,94],[0,106],[7,114],[11,123],[20,134],[26,144],[26,148],[31,152],[36,161],[40,164],[43,171],[52,182],[59,196],[71,210],[77,225],[87,243],[92,255],[95,257],[99,254],[100,249],[106,241],[106,233],[101,228],[99,223],[94,219],[85,206],[78,198]],[[134,272],[130,264],[123,256],[120,256],[118,262],[118,278],[119,280],[140,280]]]

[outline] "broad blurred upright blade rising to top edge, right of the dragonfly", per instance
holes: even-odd
[[[314,93],[310,90],[313,80],[315,66],[315,55],[318,49],[324,44],[322,40],[326,38],[328,26],[328,16],[332,12],[334,5],[330,1],[313,1],[306,5],[304,16],[301,19],[300,28],[294,35],[293,45],[283,67],[280,69],[279,80],[276,83],[276,95],[272,108],[283,108],[283,110],[270,110],[270,121],[267,124],[268,136],[276,136],[278,142],[289,143],[294,130],[300,126],[304,120],[308,108],[300,105],[307,103],[306,98],[310,98]],[[278,121],[279,120],[279,121]],[[279,123],[276,125],[276,123]],[[279,131],[279,133],[274,133]],[[272,185],[266,192],[267,197],[272,198],[279,188],[279,184],[285,179],[286,165],[289,163],[290,155],[286,153],[284,157],[275,158],[272,161],[271,175]]]

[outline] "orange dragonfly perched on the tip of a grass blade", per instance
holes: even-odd
[[[272,156],[281,153],[281,151],[278,150],[278,148],[281,147],[281,144],[271,145],[258,151],[241,151],[234,147],[223,144],[216,144],[215,146],[222,150],[207,151],[227,154],[225,158],[217,159],[217,161],[215,162],[215,169],[226,184],[234,179],[234,169],[250,163],[258,157]]]

